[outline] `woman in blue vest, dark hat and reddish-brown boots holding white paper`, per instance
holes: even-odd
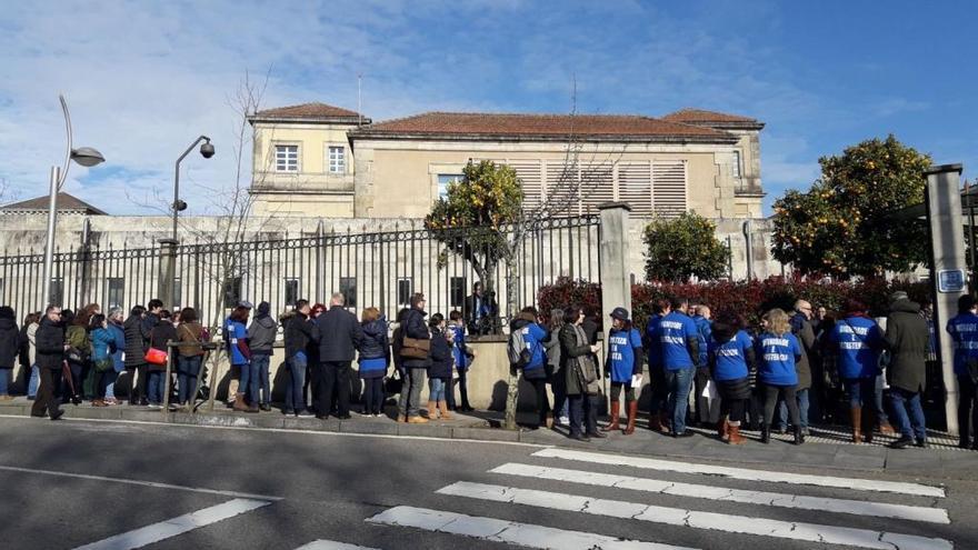
[[[611,379],[611,421],[601,428],[602,431],[613,431],[621,427],[618,424],[621,411],[621,390],[625,389],[625,404],[628,412],[628,424],[625,434],[635,433],[635,420],[638,416],[638,400],[636,390],[641,389],[642,356],[645,356],[641,336],[631,326],[628,319],[628,310],[615,308],[611,311],[611,330],[608,331],[608,354],[605,358],[605,377]],[[638,379],[636,379],[638,377]]]

